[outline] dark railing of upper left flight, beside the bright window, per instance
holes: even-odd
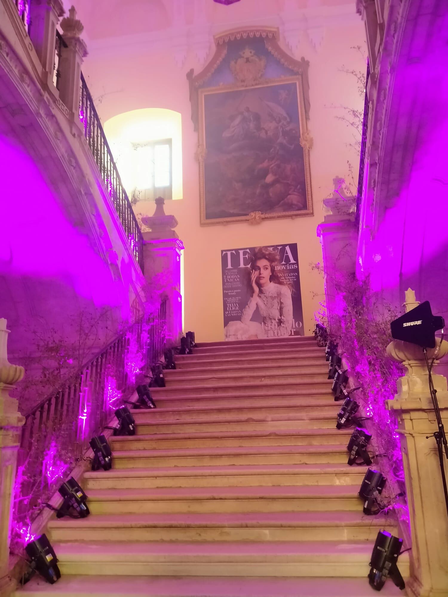
[[[143,236],[134,215],[127,193],[121,182],[113,161],[100,118],[95,109],[92,96],[81,73],[81,97],[79,101],[79,120],[84,127],[84,136],[95,158],[96,164],[112,198],[116,213],[122,223],[131,249],[143,271]]]

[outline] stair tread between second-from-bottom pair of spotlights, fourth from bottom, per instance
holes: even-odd
[[[268,485],[266,487],[174,487],[90,490],[88,501],[333,499],[358,497],[359,485]],[[361,501],[360,501],[361,504]],[[361,504],[362,505],[362,504]]]

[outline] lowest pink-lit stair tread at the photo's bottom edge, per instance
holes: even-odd
[[[400,556],[401,558],[401,556]],[[323,558],[321,558],[323,561]],[[400,564],[400,560],[398,561]],[[14,597],[373,597],[367,578],[278,576],[102,576],[66,574],[55,584],[35,576]],[[271,567],[271,574],[275,570]],[[363,575],[366,576],[366,575]],[[391,580],[381,597],[403,595]]]

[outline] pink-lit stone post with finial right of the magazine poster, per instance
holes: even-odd
[[[333,184],[336,189],[333,196],[323,201],[331,213],[324,216],[324,221],[317,227],[317,236],[320,237],[322,245],[325,300],[330,332],[332,314],[337,310],[337,282],[341,273],[346,275],[355,272],[358,242],[355,214],[352,211],[356,199],[346,196],[343,192],[343,179],[336,177]]]

